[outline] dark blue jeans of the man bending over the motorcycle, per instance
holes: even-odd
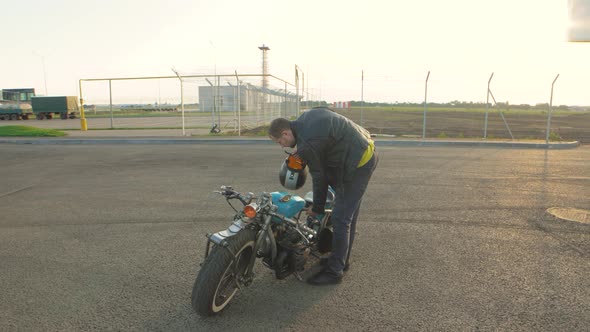
[[[377,152],[373,153],[371,160],[363,167],[357,168],[352,180],[345,182],[343,188],[336,191],[336,202],[332,211],[332,255],[327,264],[331,272],[342,274],[344,264],[350,258],[361,201],[378,160]]]

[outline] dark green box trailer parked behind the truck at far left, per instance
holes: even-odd
[[[63,120],[74,119],[80,111],[76,96],[33,97],[31,104],[37,120],[52,119],[54,116]]]

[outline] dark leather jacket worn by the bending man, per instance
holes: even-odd
[[[342,192],[350,182],[371,136],[361,126],[329,108],[314,108],[291,122],[297,154],[313,179],[313,211],[324,213],[328,185]]]

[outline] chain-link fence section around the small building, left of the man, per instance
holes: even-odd
[[[241,132],[292,118],[299,91],[273,75],[180,75],[80,80],[88,118],[110,118],[110,127],[207,129]],[[134,118],[161,121],[133,121]]]

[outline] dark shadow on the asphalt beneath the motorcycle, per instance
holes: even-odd
[[[305,264],[301,279],[292,274],[276,279],[274,271],[262,264],[255,265],[256,277],[232,300],[221,313],[201,317],[191,307],[190,292],[170,299],[176,305],[167,307],[153,320],[145,321],[145,331],[277,331],[301,326],[310,311],[322,311],[320,303],[334,296],[338,285],[317,287],[306,280],[321,270],[319,260],[312,258]],[[192,280],[176,287],[190,289]],[[304,322],[304,324],[306,324]]]

